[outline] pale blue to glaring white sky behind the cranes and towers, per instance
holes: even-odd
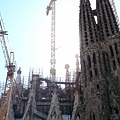
[[[95,0],[92,6],[95,8]],[[49,76],[51,48],[51,12],[46,15],[50,0],[0,0],[0,12],[8,31],[9,51],[15,52],[22,76],[29,68],[43,68]],[[120,18],[120,0],[115,0]],[[79,0],[56,1],[56,72],[65,76],[65,64],[75,69],[75,54],[79,53]],[[5,60],[0,47],[0,81],[5,81]]]

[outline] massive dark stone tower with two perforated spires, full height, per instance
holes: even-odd
[[[97,18],[97,19],[95,19]],[[120,31],[109,0],[80,0],[80,120],[120,120]]]

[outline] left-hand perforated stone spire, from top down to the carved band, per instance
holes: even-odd
[[[81,0],[79,16],[81,47],[88,47],[98,41],[97,26],[89,0]]]

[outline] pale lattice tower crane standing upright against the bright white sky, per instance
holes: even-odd
[[[50,78],[51,80],[55,80],[56,76],[56,59],[55,59],[55,1],[51,0],[49,5],[47,6],[46,14],[49,14],[49,11],[52,10],[52,21],[51,21],[51,68],[50,68]]]

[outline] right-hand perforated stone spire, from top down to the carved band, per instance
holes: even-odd
[[[96,0],[99,37],[104,40],[107,36],[119,32],[116,18],[109,0]]]

